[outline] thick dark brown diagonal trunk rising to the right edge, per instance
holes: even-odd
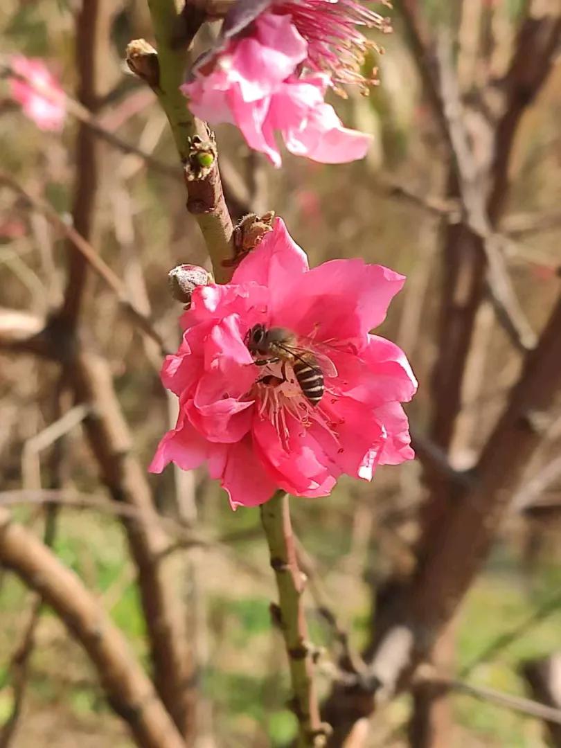
[[[432,554],[402,593],[399,622],[385,630],[375,648],[371,669],[384,683],[385,695],[399,688],[416,658],[431,649],[450,622],[485,560],[512,488],[542,441],[539,415],[548,412],[561,388],[560,325],[561,298],[485,444],[473,472],[473,487],[456,494],[446,524],[435,528]],[[396,631],[408,633],[398,639]]]

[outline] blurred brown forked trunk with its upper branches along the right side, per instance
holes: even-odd
[[[435,444],[445,455],[461,408],[462,383],[485,283],[494,284],[496,292],[497,268],[499,274],[504,270],[494,231],[506,201],[512,142],[521,114],[551,70],[555,49],[552,39],[559,39],[560,16],[524,22],[503,91],[503,108],[494,126],[488,125],[493,128],[491,148],[484,166],[479,162],[476,168],[459,116],[452,71],[444,70],[443,80],[442,65],[429,41],[418,4],[402,0],[399,10],[435,119],[450,150],[447,199],[462,206],[462,221],[444,226],[440,354],[432,381],[434,410],[429,444]],[[526,35],[527,31],[530,33]],[[525,67],[523,61],[530,58],[532,64]],[[477,138],[478,133],[470,135]],[[494,263],[494,277],[488,274],[489,263]],[[504,301],[504,294],[497,298]],[[512,325],[512,304],[507,307],[509,324],[517,329],[516,323]],[[479,571],[512,488],[541,441],[539,432],[533,430],[532,413],[546,411],[561,385],[561,344],[554,339],[554,329],[560,325],[561,301],[538,348],[527,356],[519,384],[512,390],[509,405],[479,465],[466,476],[468,485],[462,486],[449,470],[443,473],[438,464],[441,461],[430,465],[426,460],[431,494],[422,512],[419,568],[411,583],[404,586],[394,580],[379,591],[375,639],[367,653],[371,682],[354,690],[334,687],[325,706],[335,729],[331,746],[342,746],[353,726],[371,713],[374,691],[384,699],[411,683],[415,664],[429,655]]]

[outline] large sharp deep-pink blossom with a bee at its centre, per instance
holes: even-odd
[[[325,496],[342,473],[370,480],[376,465],[413,458],[400,403],[411,399],[417,382],[405,354],[369,333],[404,281],[363,260],[310,270],[276,219],[231,283],[194,289],[182,317],[183,342],[162,367],[180,415],[150,470],[206,462],[235,509],[263,503],[277,488]],[[254,363],[254,325],[289,329],[324,362],[325,392],[316,405],[292,367],[283,381],[280,361]]]

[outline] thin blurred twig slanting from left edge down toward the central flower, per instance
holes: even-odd
[[[154,328],[152,320],[138,310],[135,304],[129,300],[129,294],[123,281],[121,281],[108,264],[105,263],[105,260],[100,257],[99,253],[96,252],[90,242],[88,242],[74,226],[67,224],[67,222],[58,215],[49,203],[40,200],[39,197],[31,195],[21,185],[19,185],[10,174],[0,171],[0,184],[9,187],[12,191],[18,194],[19,197],[22,197],[27,206],[44,215],[52,226],[67,237],[70,246],[73,249],[78,250],[85,262],[91,266],[97,275],[99,275],[99,277],[102,278],[102,280],[105,281],[109,288],[115,293],[121,306],[126,310],[126,313],[130,316],[138,329],[158,343],[159,349],[162,351],[162,354],[165,355],[167,349],[161,335]]]

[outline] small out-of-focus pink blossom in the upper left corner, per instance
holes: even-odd
[[[42,130],[60,131],[66,116],[64,91],[44,62],[13,55],[10,64],[16,76],[10,78],[11,95],[24,113]]]

